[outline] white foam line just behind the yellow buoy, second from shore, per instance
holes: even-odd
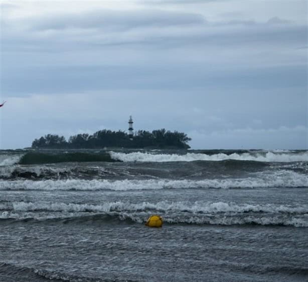
[[[209,202],[195,201],[160,201],[157,203],[141,202],[130,203],[126,201],[104,202],[102,204],[78,204],[63,202],[24,202],[14,201],[0,203],[0,210],[10,211],[64,211],[64,212],[185,212],[185,213],[290,213],[306,214],[308,216],[308,204],[282,205],[282,204],[252,204],[234,202]],[[308,217],[307,217],[308,220]]]

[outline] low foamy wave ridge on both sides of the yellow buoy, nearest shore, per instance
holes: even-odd
[[[18,213],[18,212],[2,212],[0,213],[0,220],[18,220],[18,221],[29,221],[29,220],[39,220],[39,221],[62,221],[67,222],[109,222],[114,224],[119,223],[138,223],[144,224],[150,214],[146,215],[136,215],[136,214],[116,214],[116,213]],[[308,227],[307,216],[258,216],[258,215],[203,215],[194,216],[186,215],[177,217],[164,216],[164,224],[193,224],[193,225],[277,225],[277,226],[292,226],[292,227]]]

